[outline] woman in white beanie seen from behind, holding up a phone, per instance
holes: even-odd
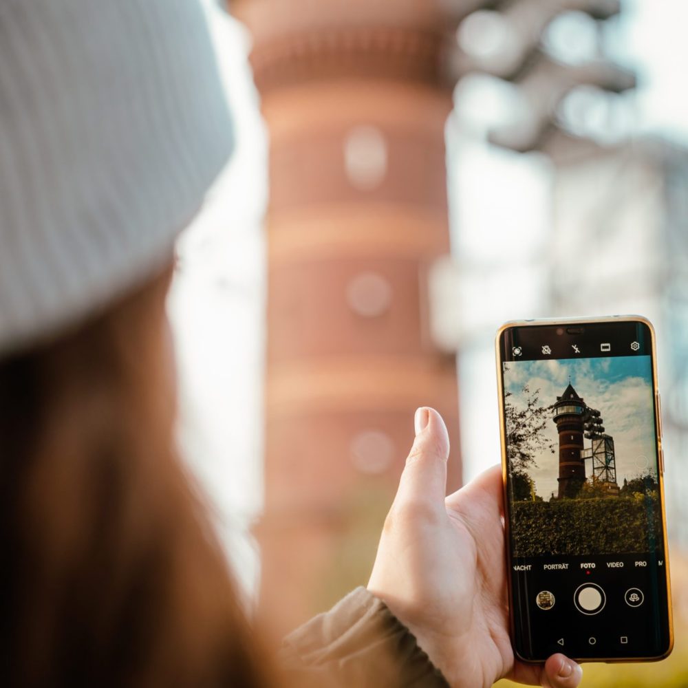
[[[173,242],[232,147],[195,0],[0,0],[0,681],[574,687],[514,662],[499,474],[416,442],[367,590],[266,658],[173,442]]]

